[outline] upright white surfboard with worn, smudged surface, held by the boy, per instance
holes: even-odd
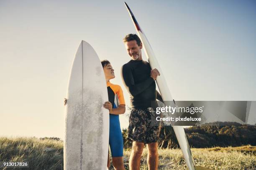
[[[106,170],[109,112],[105,75],[99,57],[82,41],[74,57],[67,90],[64,170]]]

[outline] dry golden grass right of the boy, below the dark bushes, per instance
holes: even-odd
[[[124,151],[125,168],[131,150]],[[242,146],[229,148],[192,148],[195,165],[212,170],[256,170],[256,147]],[[147,150],[141,157],[141,170],[148,170],[146,164]],[[159,150],[159,170],[187,170],[186,163],[179,149]]]

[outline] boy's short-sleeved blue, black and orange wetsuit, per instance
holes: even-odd
[[[112,108],[125,105],[123,90],[119,85],[110,82],[108,86],[108,100],[112,103]],[[119,115],[109,114],[109,145],[112,157],[123,156],[123,136],[120,128]]]

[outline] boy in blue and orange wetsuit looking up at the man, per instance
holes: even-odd
[[[101,61],[108,87],[108,100],[103,107],[109,110],[109,145],[115,170],[125,170],[123,165],[123,136],[120,128],[119,115],[125,112],[123,90],[109,80],[115,78],[114,69],[108,60]],[[110,160],[108,156],[108,168]]]

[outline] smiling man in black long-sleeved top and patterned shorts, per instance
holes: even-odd
[[[144,145],[148,150],[148,169],[158,168],[158,143],[160,126],[151,126],[151,102],[156,98],[162,101],[156,91],[156,77],[160,75],[155,68],[151,70],[148,62],[142,60],[142,43],[136,34],[128,34],[123,38],[131,60],[123,65],[121,76],[124,85],[131,95],[131,115],[129,117],[128,138],[133,140],[129,160],[130,170],[139,170]]]

